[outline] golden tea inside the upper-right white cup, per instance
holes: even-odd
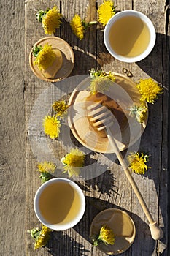
[[[136,16],[116,20],[109,31],[110,46],[121,56],[139,56],[147,49],[149,42],[150,31],[144,21]]]

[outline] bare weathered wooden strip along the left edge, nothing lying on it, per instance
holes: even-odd
[[[23,255],[26,187],[24,1],[1,1],[0,22],[0,255]]]

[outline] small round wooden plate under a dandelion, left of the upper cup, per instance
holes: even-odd
[[[29,64],[34,72],[34,74],[47,82],[58,82],[58,80],[63,80],[64,78],[68,77],[69,74],[72,72],[72,69],[74,67],[74,53],[70,45],[64,41],[63,39],[59,37],[44,37],[40,39],[38,42],[35,43],[35,45],[45,45],[48,43],[49,45],[52,45],[52,48],[58,48],[61,50],[62,56],[63,56],[63,65],[60,70],[55,75],[55,78],[45,78],[44,75],[42,75],[42,72],[38,69],[38,67],[34,66],[34,60],[35,57],[32,54],[32,50],[29,55]]]

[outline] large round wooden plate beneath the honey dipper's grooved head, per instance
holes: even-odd
[[[116,140],[120,151],[133,145],[142,135],[147,124],[147,120],[140,124],[134,117],[129,116],[131,105],[140,105],[141,94],[136,88],[136,84],[130,78],[115,73],[116,81],[110,86],[109,91],[104,94],[117,102],[123,110],[126,120],[123,124],[112,129],[112,134]],[[83,80],[72,92],[69,99],[69,127],[74,137],[85,147],[101,153],[114,153],[114,148],[109,144],[106,133],[98,132],[90,124],[87,114],[87,102],[90,96],[90,77]]]

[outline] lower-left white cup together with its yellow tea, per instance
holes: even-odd
[[[65,230],[82,218],[85,197],[73,181],[53,178],[36,192],[34,209],[42,224],[53,230]]]

